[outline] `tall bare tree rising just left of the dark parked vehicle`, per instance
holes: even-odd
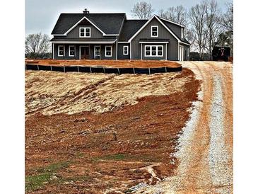
[[[205,8],[205,23],[207,33],[207,47],[206,50],[209,53],[209,57],[212,57],[212,50],[215,46],[218,36],[223,32],[221,28],[221,12],[218,9],[218,3],[215,0],[203,1],[206,4]]]

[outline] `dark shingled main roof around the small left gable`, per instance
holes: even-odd
[[[105,34],[119,34],[125,13],[61,13],[52,35],[63,35],[82,18],[96,25]]]

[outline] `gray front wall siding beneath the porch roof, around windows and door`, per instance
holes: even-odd
[[[80,59],[80,45],[77,44],[75,45],[76,47],[76,53],[75,57],[69,57],[69,45],[72,44],[66,44],[64,45],[65,47],[65,56],[64,57],[58,57],[58,45],[64,45],[64,44],[54,44],[54,59]],[[83,46],[83,45],[81,45]],[[84,46],[89,46],[90,47],[90,59],[94,59],[94,45],[84,45]],[[116,59],[116,45],[112,45],[112,56],[111,57],[105,57],[105,46],[106,45],[100,45],[100,59]]]

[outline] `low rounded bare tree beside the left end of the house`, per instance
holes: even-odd
[[[30,34],[25,38],[25,54],[49,52],[49,36],[42,33]]]

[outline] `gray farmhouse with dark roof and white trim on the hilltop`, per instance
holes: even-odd
[[[52,35],[53,59],[189,59],[184,25],[154,15],[127,20],[125,13],[61,13]]]

